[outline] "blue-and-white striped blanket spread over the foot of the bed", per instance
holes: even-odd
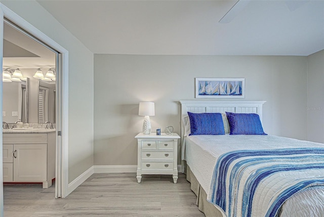
[[[324,185],[324,149],[242,150],[217,160],[208,201],[227,216],[276,216],[290,196]]]

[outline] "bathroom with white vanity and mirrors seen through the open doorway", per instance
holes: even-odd
[[[3,129],[4,182],[41,182],[49,188],[56,169],[58,52],[6,19],[3,45],[3,123],[9,128]],[[52,126],[53,130],[42,134],[47,139],[27,142],[26,130],[37,133],[36,129]],[[36,145],[39,142],[46,144]]]

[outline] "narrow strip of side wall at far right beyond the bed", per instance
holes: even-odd
[[[307,139],[324,143],[324,50],[307,58]]]

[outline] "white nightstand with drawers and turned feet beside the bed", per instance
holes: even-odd
[[[141,182],[142,174],[170,174],[177,183],[178,139],[177,133],[167,135],[161,133],[143,134],[137,136],[137,182]]]

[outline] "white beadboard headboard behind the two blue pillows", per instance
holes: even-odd
[[[183,141],[184,126],[182,118],[187,116],[187,112],[192,113],[255,113],[260,116],[262,123],[262,105],[266,101],[187,101],[181,100],[181,143]]]

